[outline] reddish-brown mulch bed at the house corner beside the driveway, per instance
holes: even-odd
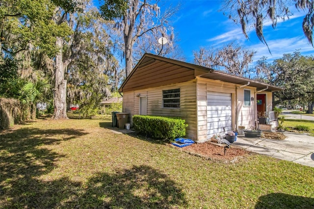
[[[224,154],[224,145],[219,145],[212,142],[192,144],[190,146],[178,149],[181,149],[183,152],[187,152],[191,155],[226,163],[235,162],[239,158],[246,157],[251,154],[248,151],[234,148],[232,145],[230,148],[226,148],[226,154]]]

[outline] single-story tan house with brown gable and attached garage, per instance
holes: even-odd
[[[252,129],[258,111],[272,110],[272,92],[282,88],[249,78],[145,53],[119,89],[123,112],[183,118],[186,137]],[[259,104],[258,104],[258,103]]]

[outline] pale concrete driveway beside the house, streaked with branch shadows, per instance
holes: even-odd
[[[300,133],[284,133],[285,140],[247,138],[238,135],[233,147],[253,153],[284,159],[314,167],[314,137]]]

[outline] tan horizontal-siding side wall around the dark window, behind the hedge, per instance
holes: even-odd
[[[180,108],[162,108],[162,90],[170,90],[180,88]],[[183,118],[188,124],[186,137],[197,139],[197,116],[196,116],[196,81],[183,82],[179,84],[167,85],[157,88],[147,88],[143,90],[131,91],[133,97],[128,97],[127,100],[133,101],[134,114],[139,114],[139,97],[147,96],[147,115],[170,116]],[[128,92],[129,93],[129,92]],[[129,95],[129,94],[128,94]],[[131,95],[131,94],[130,94]],[[123,98],[125,101],[125,98]],[[126,102],[126,104],[131,104]]]

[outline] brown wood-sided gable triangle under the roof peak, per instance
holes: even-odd
[[[194,79],[194,70],[156,60],[138,67],[123,87],[123,92],[180,83]]]

